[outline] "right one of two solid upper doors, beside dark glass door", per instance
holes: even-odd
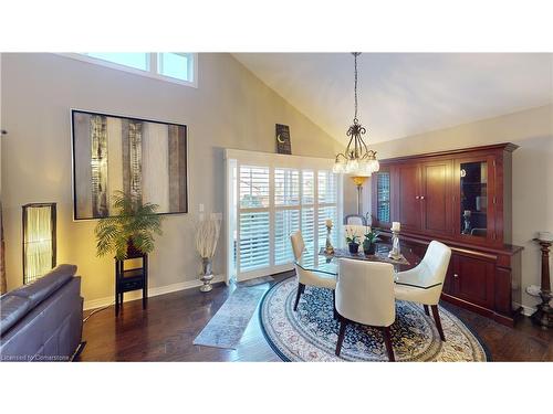
[[[422,230],[429,233],[452,234],[451,169],[451,160],[421,164]]]

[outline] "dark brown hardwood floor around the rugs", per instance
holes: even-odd
[[[275,280],[286,276],[275,276]],[[257,312],[237,350],[192,344],[230,293],[231,288],[219,284],[209,294],[188,289],[149,298],[146,311],[140,300],[126,302],[118,318],[113,307],[102,310],[84,325],[87,343],[79,360],[280,361],[261,332]],[[553,361],[553,331],[532,326],[529,318],[511,329],[453,305],[442,305],[486,342],[493,361]]]

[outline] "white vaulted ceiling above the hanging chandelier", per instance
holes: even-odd
[[[337,140],[353,119],[349,53],[234,53]],[[359,121],[371,142],[553,103],[553,54],[363,53]]]

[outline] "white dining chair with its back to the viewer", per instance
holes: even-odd
[[[388,359],[395,361],[389,327],[396,320],[394,266],[389,263],[341,258],[336,284],[340,320],[336,355],[340,357],[346,328],[356,322],[382,331]]]

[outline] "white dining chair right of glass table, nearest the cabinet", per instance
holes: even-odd
[[[440,333],[442,341],[446,340],[444,329],[441,327],[440,314],[438,312],[438,302],[440,300],[441,290],[444,289],[444,280],[451,258],[451,248],[444,243],[432,241],[428,245],[425,257],[414,268],[397,274],[398,282],[394,287],[396,299],[408,300],[422,305],[425,314],[430,316],[428,307],[432,309],[434,320]],[[420,288],[413,285],[431,286],[429,288]]]

